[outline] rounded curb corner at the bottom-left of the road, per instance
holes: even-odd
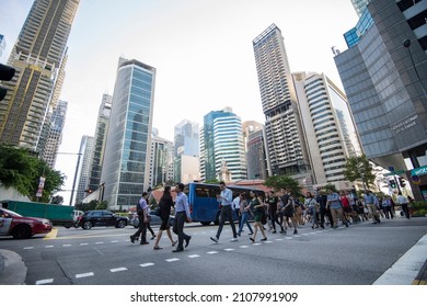
[[[21,255],[10,250],[0,249],[0,285],[24,285],[26,278],[26,266]]]

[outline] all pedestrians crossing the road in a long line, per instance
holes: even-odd
[[[280,234],[287,234],[288,228],[293,228],[293,235],[298,234],[298,227],[305,223],[311,224],[311,228],[325,228],[330,225],[332,228],[338,228],[338,223],[348,227],[348,225],[359,223],[361,220],[372,219],[373,224],[381,223],[382,218],[394,217],[395,203],[390,196],[383,198],[377,197],[371,191],[359,198],[354,191],[351,192],[335,192],[330,189],[327,193],[321,191],[318,195],[307,192],[304,201],[301,202],[290,193],[287,189],[280,189],[280,193],[276,195],[274,191],[269,191],[265,195],[256,194],[251,191],[250,195],[240,193],[233,198],[232,191],[227,187],[224,182],[220,182],[220,194],[217,200],[220,203],[220,216],[217,235],[210,237],[214,242],[218,242],[226,221],[229,221],[232,238],[231,241],[238,241],[238,236],[242,235],[244,226],[249,229],[250,240],[255,242],[258,231],[262,235],[261,241],[267,240],[267,232],[277,232],[277,227],[280,227]],[[162,249],[159,242],[162,238],[163,231],[171,241],[171,246],[177,245],[173,252],[181,252],[187,248],[192,237],[184,232],[185,221],[191,223],[191,214],[188,207],[188,200],[184,191],[184,184],[178,183],[175,186],[176,198],[175,203],[172,200],[171,186],[165,186],[164,193],[159,202],[161,226],[158,235],[152,232],[152,238],[157,237],[153,249]],[[141,245],[148,245],[147,229],[149,226],[149,206],[147,204],[148,193],[143,192],[137,205],[137,214],[139,218],[138,230],[130,236],[130,241],[134,243],[140,239]],[[399,194],[396,198],[402,212],[406,218],[409,218],[408,200]],[[169,217],[171,208],[175,207],[175,220],[173,225],[173,232],[177,235],[177,240],[174,240],[169,225]],[[234,224],[233,213],[239,217],[238,228]],[[252,228],[250,219],[254,219]],[[268,230],[265,228],[268,227]],[[152,230],[151,230],[152,231]],[[184,246],[185,242],[185,246]]]

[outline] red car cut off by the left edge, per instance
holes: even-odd
[[[48,234],[51,221],[46,218],[24,217],[15,212],[0,208],[0,236],[27,239],[34,235]]]

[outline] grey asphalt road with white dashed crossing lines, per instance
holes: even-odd
[[[230,242],[228,225],[219,243],[209,239],[217,226],[191,224],[185,231],[192,240],[181,253],[165,236],[158,251],[153,241],[130,243],[130,226],[58,228],[46,238],[1,238],[0,247],[22,257],[27,285],[370,285],[427,234],[427,218],[325,230],[305,225],[296,236],[267,232],[265,242],[258,234],[256,243],[247,229]]]

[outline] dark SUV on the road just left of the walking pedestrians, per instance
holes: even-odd
[[[78,217],[78,227],[91,229],[96,226],[114,226],[124,228],[129,223],[129,218],[116,215],[109,211],[89,211]]]

